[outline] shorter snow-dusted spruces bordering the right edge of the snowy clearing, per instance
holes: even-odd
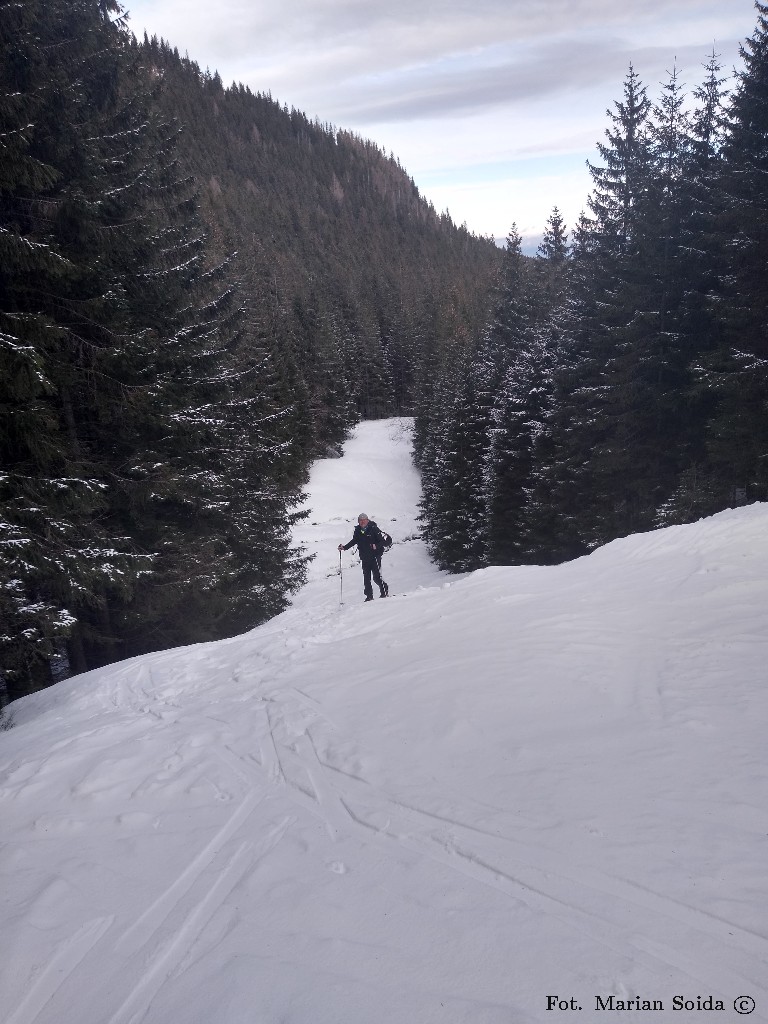
[[[555,214],[553,233],[560,229]],[[552,245],[559,253],[558,242],[553,240]],[[459,374],[447,375],[451,397],[442,388],[432,393],[435,408],[430,424],[432,420],[439,423],[437,443],[427,444],[423,452],[417,447],[417,452],[425,478],[424,534],[433,557],[443,567],[469,570],[487,561],[505,560],[524,543],[519,529],[510,532],[507,523],[516,521],[525,503],[523,488],[531,465],[525,445],[534,443],[534,420],[542,410],[537,406],[541,394],[531,379],[527,380],[531,392],[523,393],[519,372],[527,358],[536,362],[539,339],[535,328],[545,308],[542,294],[556,290],[556,281],[554,268],[541,276],[534,272],[513,225],[500,270],[494,319],[476,349],[462,359]],[[430,429],[421,417],[417,427]]]

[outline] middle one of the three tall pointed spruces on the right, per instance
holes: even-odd
[[[627,513],[623,529],[649,528],[674,488],[689,441],[688,368],[695,339],[682,330],[689,289],[682,182],[691,131],[676,69],[648,120],[649,173],[638,198],[633,259],[620,264],[625,323],[614,333],[610,415]],[[611,460],[613,461],[613,460]]]

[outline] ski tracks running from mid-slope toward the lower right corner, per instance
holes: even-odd
[[[290,717],[291,712],[284,711],[282,724]],[[270,745],[276,751],[273,735]],[[722,982],[723,946],[729,947],[737,954],[742,971],[728,972],[727,983],[734,990],[741,991],[745,986],[750,990],[759,987],[763,991],[765,957],[768,955],[765,937],[586,867],[574,870],[573,866],[569,866],[567,873],[563,874],[560,855],[553,856],[550,851],[516,840],[483,834],[460,819],[442,819],[442,827],[435,835],[434,815],[388,799],[365,779],[346,776],[341,786],[331,781],[329,767],[317,758],[308,728],[296,738],[291,754],[294,758],[298,757],[297,764],[311,783],[317,804],[316,813],[322,815],[332,839],[339,833],[365,829],[369,837],[373,834],[380,841],[393,840],[452,870],[521,900],[532,909],[554,915],[581,935],[589,935],[610,948],[623,947],[629,942],[635,946],[638,958],[656,968],[674,965],[699,986],[707,985],[714,971],[719,973]],[[287,756],[288,753],[284,759]],[[282,763],[280,755],[276,755],[276,760]],[[338,769],[331,770],[337,776],[343,775]],[[274,781],[275,776],[272,774],[271,777]],[[292,799],[306,808],[308,805],[304,796],[305,791],[294,787]],[[385,820],[385,824],[377,825],[377,819]],[[473,843],[475,847],[478,845],[478,836],[482,840],[480,846],[489,844],[498,850],[512,848],[517,865],[514,876],[492,862],[493,853],[488,855],[472,849]],[[462,837],[461,844],[459,837]],[[547,868],[541,866],[542,861],[548,864]],[[642,925],[638,922],[638,911],[644,915]],[[643,933],[640,937],[634,935],[638,930]],[[680,951],[685,948],[691,931],[714,940],[709,962],[702,962],[700,957],[694,961]],[[651,942],[644,938],[659,934],[670,936],[671,941]]]

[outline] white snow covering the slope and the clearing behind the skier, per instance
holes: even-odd
[[[5,1024],[768,1021],[768,507],[446,577],[408,427],[314,467],[282,615],[12,706]]]

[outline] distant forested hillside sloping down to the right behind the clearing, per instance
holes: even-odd
[[[213,245],[238,251],[262,330],[299,362],[315,447],[350,411],[413,410],[424,349],[468,343],[487,315],[494,243],[436,213],[375,143],[224,88],[157,39],[139,50],[166,116],[195,126],[180,160]]]

